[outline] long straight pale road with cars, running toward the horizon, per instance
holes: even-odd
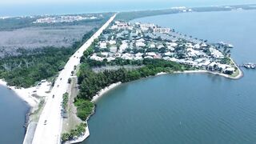
[[[62,132],[62,95],[68,88],[68,78],[74,66],[78,66],[83,51],[85,51],[98,38],[102,31],[110,25],[116,14],[112,16],[84,45],[82,45],[66,63],[65,68],[60,72],[51,90],[50,96],[46,100],[46,105],[40,115],[38,125],[34,132],[33,144],[58,144],[61,142]],[[54,95],[54,98],[53,98]]]

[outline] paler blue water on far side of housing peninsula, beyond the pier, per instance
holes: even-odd
[[[208,42],[229,42],[234,45],[232,58],[241,64],[256,62],[255,14],[256,10],[182,13],[139,18],[132,22],[153,22]]]

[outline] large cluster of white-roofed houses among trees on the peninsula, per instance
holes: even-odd
[[[111,62],[118,58],[141,61],[161,58],[202,70],[233,74],[235,68],[217,47],[206,42],[190,42],[173,35],[174,30],[152,23],[114,22],[95,42],[90,59]]]

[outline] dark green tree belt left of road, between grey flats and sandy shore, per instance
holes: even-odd
[[[52,78],[62,70],[70,56],[98,29],[83,35],[82,40],[70,47],[43,47],[35,50],[20,49],[18,56],[0,59],[0,78],[9,86],[30,87],[42,79]]]

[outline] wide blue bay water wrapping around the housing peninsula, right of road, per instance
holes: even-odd
[[[256,11],[140,18],[210,42],[231,42],[236,62],[256,62]],[[256,71],[230,80],[212,74],[166,74],[110,90],[90,118],[84,144],[255,143]]]

